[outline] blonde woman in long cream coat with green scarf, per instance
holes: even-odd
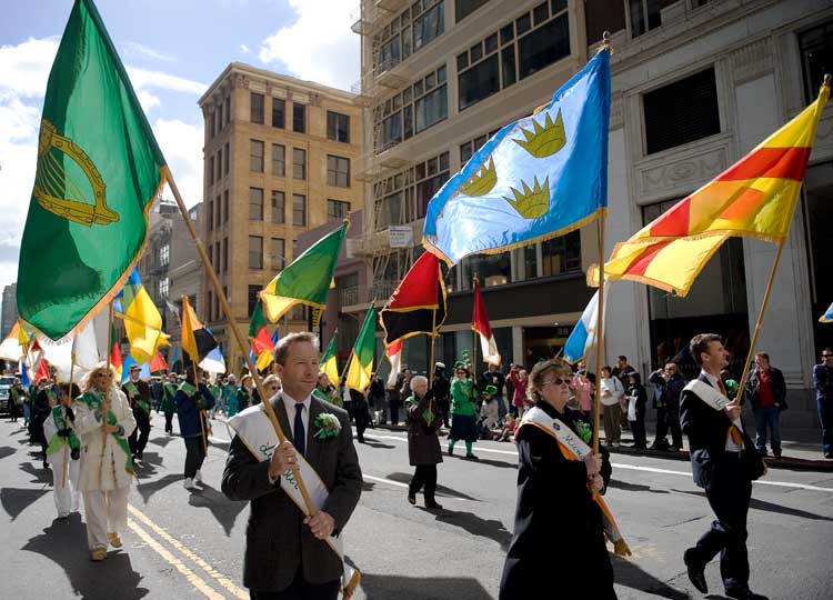
[[[108,544],[122,546],[119,532],[127,528],[133,479],[128,436],[136,420],[107,362],[99,362],[83,383],[86,391],[74,403],[76,431],[81,438],[78,488],[84,498],[91,557],[100,561],[107,558]]]

